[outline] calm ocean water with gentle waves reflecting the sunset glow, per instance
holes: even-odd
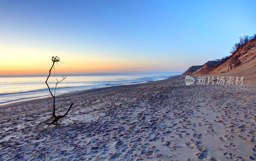
[[[158,80],[180,74],[179,72],[145,72],[145,73],[94,73],[68,75],[56,88],[56,95],[83,91],[88,89],[109,87],[123,84],[144,83],[150,80]],[[0,105],[19,102],[29,99],[48,97],[50,95],[45,84],[47,75],[0,77]],[[61,80],[58,74],[52,74],[48,79],[50,89],[54,92],[56,78]]]

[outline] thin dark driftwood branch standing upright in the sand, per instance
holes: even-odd
[[[60,120],[61,118],[65,117],[65,116],[68,114],[68,112],[69,112],[71,106],[73,105],[73,102],[72,102],[71,105],[70,105],[69,108],[68,108],[68,111],[67,111],[64,115],[56,116],[56,114],[55,114],[55,91],[56,91],[56,87],[57,87],[57,84],[59,84],[59,83],[60,83],[61,81],[63,81],[64,79],[66,79],[67,76],[65,76],[65,77],[62,76],[62,80],[61,80],[61,81],[58,81],[58,79],[56,79],[56,80],[57,80],[57,83],[55,84],[54,94],[52,94],[52,91],[50,90],[50,87],[49,87],[47,81],[48,81],[49,77],[51,76],[51,71],[52,71],[53,69],[55,69],[55,68],[54,68],[54,63],[58,63],[58,62],[60,62],[60,58],[58,58],[57,56],[55,56],[55,57],[52,56],[52,67],[51,67],[51,69],[49,70],[49,75],[48,75],[48,77],[47,77],[47,79],[46,79],[46,81],[45,81],[45,83],[46,83],[46,85],[47,85],[47,87],[48,87],[48,89],[49,89],[49,92],[51,93],[51,95],[50,95],[49,97],[52,96],[52,98],[53,98],[52,109],[50,108],[50,105],[49,105],[49,97],[48,97],[48,99],[47,99],[48,107],[49,107],[49,110],[50,110],[50,113],[51,113],[52,116],[51,116],[51,118],[49,118],[49,119],[47,119],[47,120],[45,121],[45,124],[47,124],[48,126],[50,126],[50,125],[55,125],[55,127],[56,127],[57,125],[60,126],[59,120]]]

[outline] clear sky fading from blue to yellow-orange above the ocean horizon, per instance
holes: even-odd
[[[0,1],[0,74],[185,71],[256,33],[255,1]]]

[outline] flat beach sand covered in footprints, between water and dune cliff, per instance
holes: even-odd
[[[58,96],[57,128],[47,99],[0,106],[0,160],[256,160],[255,85],[184,77]]]

